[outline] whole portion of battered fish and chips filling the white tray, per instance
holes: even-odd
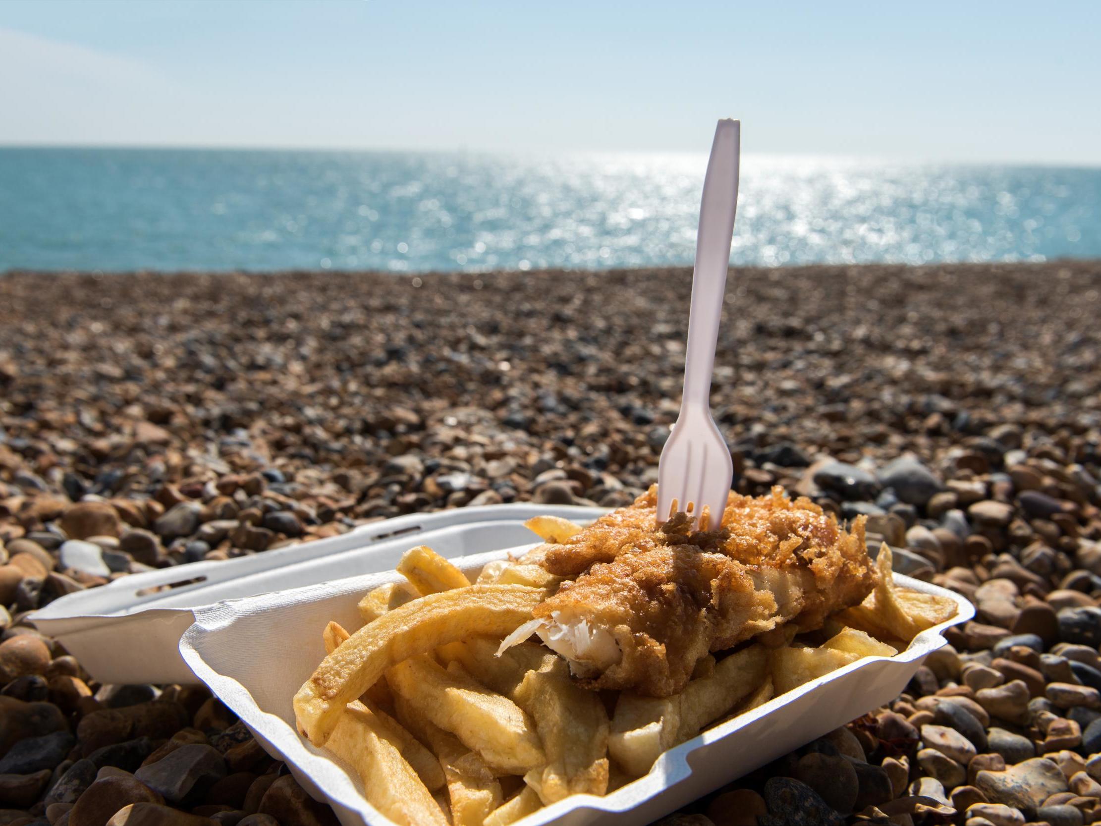
[[[543,544],[477,577],[417,546],[397,565],[405,584],[360,599],[362,628],[320,629],[298,730],[394,823],[506,826],[608,794],[957,610],[897,586],[886,545],[873,563],[862,517],[847,530],[778,488],[731,493],[715,531],[658,522],[654,489],[586,528],[527,526]]]

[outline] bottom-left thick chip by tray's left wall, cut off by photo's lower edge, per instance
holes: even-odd
[[[337,720],[326,747],[349,763],[363,782],[363,796],[403,826],[446,826],[447,816],[402,757],[399,745],[361,703],[350,703]]]

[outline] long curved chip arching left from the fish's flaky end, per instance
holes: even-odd
[[[324,746],[345,706],[386,669],[475,634],[504,637],[531,619],[544,594],[522,585],[471,585],[430,594],[384,613],[326,656],[298,689],[294,697],[298,730],[315,746]]]

